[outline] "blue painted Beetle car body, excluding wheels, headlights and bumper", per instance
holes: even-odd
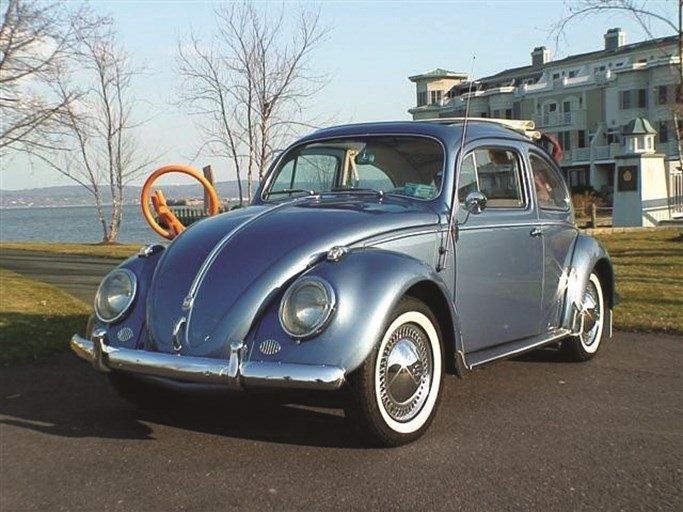
[[[526,339],[536,346],[545,332],[568,328],[596,265],[613,305],[604,248],[579,236],[570,206],[544,213],[537,205],[524,156],[535,145],[494,123],[472,122],[464,142],[462,135],[459,123],[405,122],[336,127],[300,139],[273,162],[251,206],[197,222],[164,251],[124,262],[138,278],[138,296],[123,320],[97,327],[114,347],[227,360],[242,343],[242,362],[329,365],[348,375],[377,344],[401,297],[426,284],[432,292],[422,298],[439,312],[446,353],[465,363],[468,354]],[[344,146],[347,140],[356,145]],[[379,142],[364,153],[357,141]],[[521,205],[467,214],[457,200],[461,157],[498,146],[519,154]],[[391,165],[382,167],[383,158]],[[340,187],[360,183],[359,169],[370,164],[375,182],[392,190]],[[319,176],[307,183],[332,185],[312,195],[296,187],[269,195],[286,165],[308,165]],[[295,171],[287,172],[295,183]],[[335,246],[347,252],[328,261]],[[328,282],[337,302],[325,328],[301,340],[285,333],[279,309],[288,287],[304,276]],[[134,338],[119,340],[122,328]]]

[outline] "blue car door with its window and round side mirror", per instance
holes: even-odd
[[[543,241],[521,145],[481,144],[458,171],[455,302],[467,353],[539,333]],[[487,197],[467,214],[469,192]]]

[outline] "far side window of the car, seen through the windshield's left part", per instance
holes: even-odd
[[[330,190],[334,185],[337,167],[338,159],[335,156],[300,154],[282,167],[271,191]]]

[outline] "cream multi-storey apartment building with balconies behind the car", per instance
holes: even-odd
[[[471,117],[533,119],[561,142],[570,185],[610,194],[615,162],[634,149],[663,154],[667,174],[680,173],[674,126],[680,62],[677,36],[626,44],[626,34],[612,28],[602,49],[557,61],[541,46],[528,66],[475,80],[445,69],[411,76],[417,105],[408,112],[415,120],[463,117],[468,107]],[[634,129],[652,132],[654,147],[638,147],[652,136],[634,138]]]

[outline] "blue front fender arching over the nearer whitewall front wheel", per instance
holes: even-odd
[[[336,365],[343,367],[348,375],[368,357],[383,334],[392,310],[411,289],[427,287],[432,295],[441,294],[430,299],[450,305],[451,326],[457,318],[439,275],[430,266],[405,254],[379,249],[352,251],[338,262],[323,261],[302,276],[320,277],[334,288],[337,305],[329,325],[312,339],[291,339],[280,326],[278,308],[282,294],[279,294],[250,333],[249,360]],[[457,332],[457,329],[448,330]],[[281,350],[269,355],[266,352],[270,350],[262,347],[272,347],[268,343],[272,341]]]

